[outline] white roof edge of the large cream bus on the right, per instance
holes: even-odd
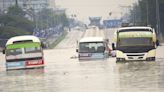
[[[151,27],[144,27],[144,26],[136,26],[136,27],[122,27],[118,29],[118,32],[123,32],[125,30],[145,30],[145,31],[150,31],[153,32],[153,29]]]

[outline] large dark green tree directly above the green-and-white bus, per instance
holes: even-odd
[[[34,23],[24,17],[17,6],[10,7],[7,14],[0,15],[0,38],[32,34]]]

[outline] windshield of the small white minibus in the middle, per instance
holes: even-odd
[[[103,42],[83,42],[79,47],[81,53],[103,53],[105,51]]]

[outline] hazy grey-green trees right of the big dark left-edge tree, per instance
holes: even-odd
[[[36,15],[39,28],[55,27],[56,25],[63,24],[68,26],[68,19],[65,13],[57,13],[52,9],[43,9]]]

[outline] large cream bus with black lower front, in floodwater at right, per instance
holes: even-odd
[[[116,31],[116,61],[147,60],[155,61],[156,33],[151,27],[124,27]]]

